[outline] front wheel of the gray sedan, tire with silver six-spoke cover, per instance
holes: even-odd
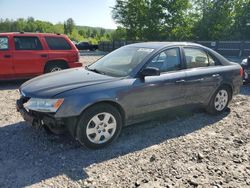
[[[122,117],[119,111],[109,104],[97,104],[80,116],[76,139],[87,148],[99,149],[114,141],[121,129]]]

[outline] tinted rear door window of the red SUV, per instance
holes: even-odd
[[[37,37],[14,37],[16,50],[42,50],[42,45]]]

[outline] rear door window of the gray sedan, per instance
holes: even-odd
[[[196,48],[184,48],[187,68],[214,66],[215,61],[205,51]]]

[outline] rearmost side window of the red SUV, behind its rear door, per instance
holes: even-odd
[[[71,46],[63,37],[45,37],[45,40],[51,50],[71,50]]]

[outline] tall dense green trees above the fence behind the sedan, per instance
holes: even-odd
[[[250,0],[116,0],[123,40],[250,40]]]

